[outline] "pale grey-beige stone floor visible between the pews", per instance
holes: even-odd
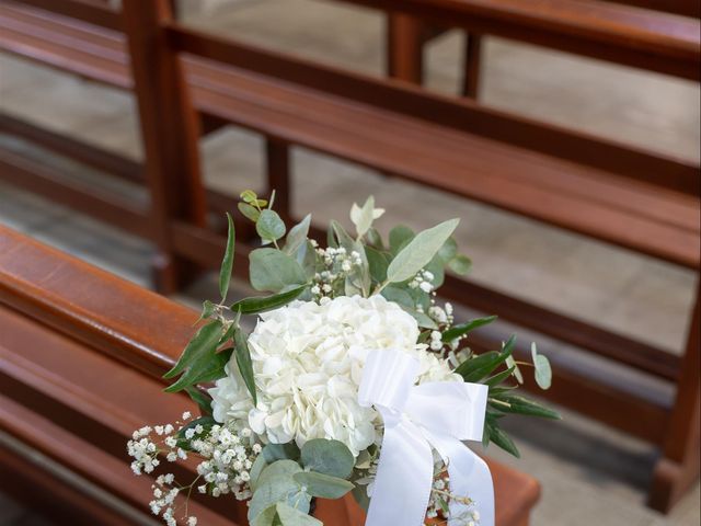
[[[314,0],[186,0],[183,12],[210,31],[374,75],[382,70],[382,20],[369,10]],[[429,46],[430,89],[455,92],[459,48],[456,32]],[[670,156],[699,158],[699,89],[689,82],[489,39],[484,101]],[[0,56],[0,111],[141,156],[128,95],[8,56]],[[11,138],[0,140],[45,156]],[[211,186],[235,195],[261,185],[262,142],[254,134],[221,130],[204,141],[203,152]],[[145,198],[129,185],[64,160],[45,160],[64,163],[71,176]],[[474,260],[475,279],[674,352],[681,348],[696,283],[687,271],[306,150],[296,150],[294,161],[295,207],[312,210],[320,222],[370,193],[389,209],[381,226],[404,221],[420,228],[459,216],[459,241]],[[0,222],[150,284],[148,243],[65,207],[0,185]],[[177,299],[196,305],[212,291],[212,281],[204,278]],[[551,352],[564,351],[555,345]],[[491,454],[541,480],[535,525],[699,524],[698,485],[669,517],[644,507],[656,455],[645,444],[570,412],[563,423],[516,421],[512,431],[524,458]],[[14,508],[0,501],[0,510]],[[0,525],[39,524],[22,522],[38,521],[31,511],[15,515],[0,513]]]

